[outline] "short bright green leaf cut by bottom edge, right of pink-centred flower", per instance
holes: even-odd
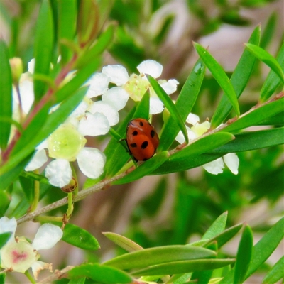
[[[117,283],[131,283],[133,279],[124,271],[109,266],[101,266],[97,263],[82,264],[72,268],[68,273],[68,278],[87,277],[98,283],[117,284]]]

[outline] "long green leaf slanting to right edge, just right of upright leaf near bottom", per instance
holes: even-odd
[[[246,278],[249,278],[276,249],[284,237],[284,217],[282,217],[259,241],[253,246],[253,255]]]

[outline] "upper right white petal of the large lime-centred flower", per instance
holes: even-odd
[[[109,121],[104,114],[87,112],[80,120],[78,131],[83,136],[98,136],[109,132]]]

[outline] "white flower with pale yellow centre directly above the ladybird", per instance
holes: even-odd
[[[155,60],[145,60],[137,66],[137,69],[140,75],[132,74],[129,76],[126,68],[121,65],[107,65],[102,68],[102,72],[107,75],[110,81],[116,84],[116,86],[123,87],[129,93],[131,99],[136,102],[140,101],[145,92],[150,89],[150,114],[162,112],[163,103],[153,91],[151,84],[146,78],[146,74],[156,79],[162,74],[163,66]],[[177,89],[178,81],[175,79],[168,81],[159,80],[158,82],[167,94],[173,94]]]

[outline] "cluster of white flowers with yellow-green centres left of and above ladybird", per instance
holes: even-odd
[[[33,72],[32,61],[29,72]],[[37,151],[25,170],[35,170],[54,158],[45,169],[50,184],[57,187],[68,185],[72,179],[70,162],[77,160],[80,170],[89,178],[102,175],[105,156],[97,148],[84,147],[84,136],[99,136],[108,133],[110,126],[119,122],[119,110],[123,109],[131,97],[135,101],[142,99],[149,89],[151,94],[150,114],[163,111],[163,103],[158,99],[146,74],[160,77],[163,66],[154,60],[143,61],[137,67],[140,75],[128,75],[122,65],[107,65],[102,72],[95,73],[87,82],[89,89],[83,101],[46,141],[37,147]],[[116,86],[109,88],[109,83]],[[159,80],[167,94],[177,89],[176,80]],[[99,99],[101,97],[101,99]],[[94,99],[95,98],[95,99]],[[48,149],[48,156],[45,149]]]

